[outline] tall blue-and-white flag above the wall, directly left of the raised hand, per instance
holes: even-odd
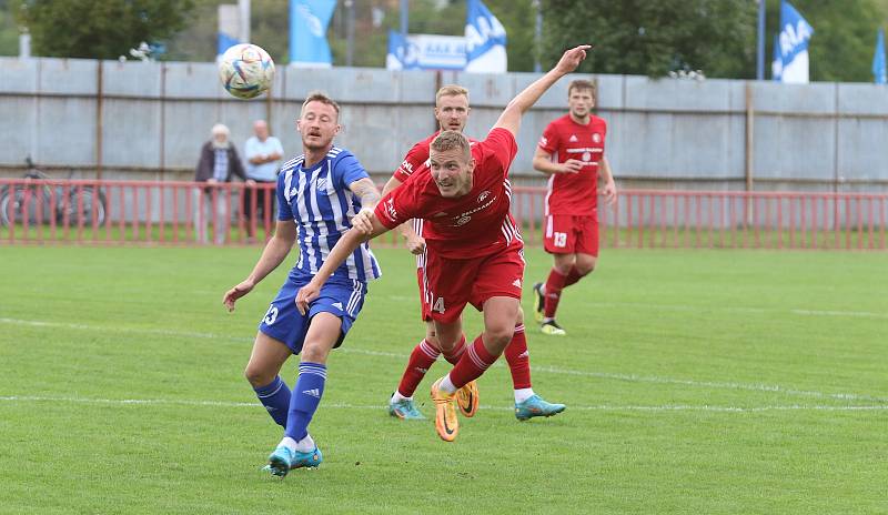
[[[481,0],[468,0],[465,53],[465,71],[506,72],[506,30]]]

